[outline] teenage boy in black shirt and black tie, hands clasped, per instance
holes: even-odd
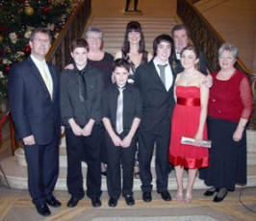
[[[81,162],[88,164],[87,195],[94,208],[101,206],[101,96],[103,80],[100,71],[88,66],[89,46],[84,38],[71,44],[73,69],[61,76],[61,109],[65,126],[67,188],[71,194],[67,207],[73,208],[84,197]]]

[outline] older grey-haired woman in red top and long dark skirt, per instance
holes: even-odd
[[[212,139],[210,166],[200,171],[200,178],[211,185],[204,195],[215,195],[214,202],[235,190],[235,184],[246,184],[245,126],[253,104],[249,81],[234,66],[237,56],[234,45],[222,44],[218,49],[220,70],[212,73],[207,119]]]

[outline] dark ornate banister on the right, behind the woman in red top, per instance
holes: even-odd
[[[204,52],[208,69],[211,72],[218,70],[218,48],[225,42],[223,37],[192,5],[192,0],[177,0],[177,15],[188,26],[195,47]],[[238,58],[235,66],[249,77],[254,103],[256,103],[256,73],[250,71],[240,58]],[[254,110],[249,127],[256,130],[256,110]]]

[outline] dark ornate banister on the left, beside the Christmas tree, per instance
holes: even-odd
[[[64,64],[70,61],[69,47],[71,42],[74,38],[82,36],[87,20],[90,16],[90,12],[90,0],[80,1],[76,10],[72,12],[65,23],[64,28],[54,40],[48,54],[46,55],[46,60],[56,64],[60,70],[64,68]],[[12,154],[14,155],[14,151],[18,147],[18,143],[15,139],[13,119],[11,116],[9,117],[9,125]]]

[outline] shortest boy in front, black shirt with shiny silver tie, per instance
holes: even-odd
[[[123,169],[122,195],[127,205],[133,198],[133,173],[136,151],[136,131],[141,123],[141,94],[127,84],[130,64],[118,59],[114,63],[115,84],[108,87],[103,97],[103,124],[106,128],[108,153],[107,184],[109,206],[115,207],[121,194],[120,165]]]

